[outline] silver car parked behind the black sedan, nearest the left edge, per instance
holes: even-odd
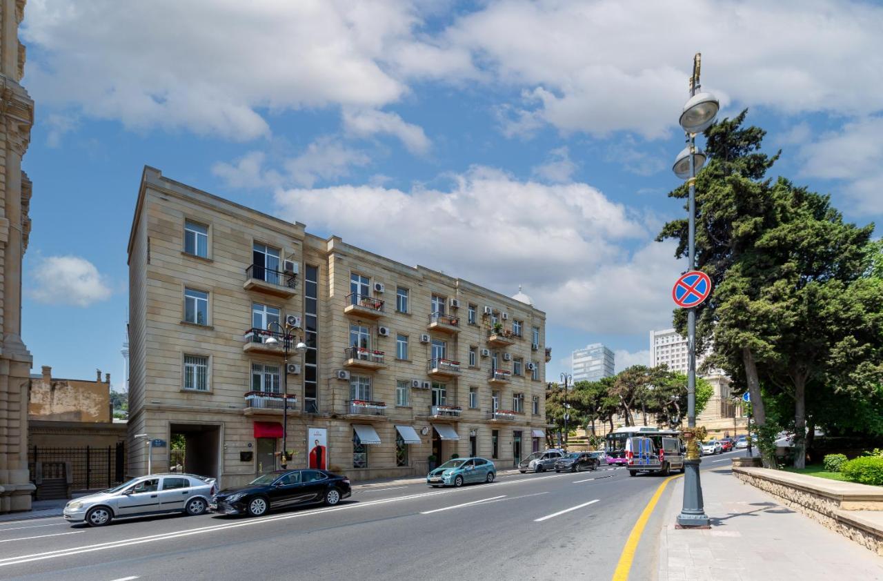
[[[201,515],[215,494],[215,479],[194,474],[151,474],[97,494],[80,496],[64,506],[71,523],[103,526],[116,518],[183,512]]]

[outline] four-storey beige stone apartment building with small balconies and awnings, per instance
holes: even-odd
[[[545,313],[523,293],[313,236],[153,168],[128,253],[131,474],[149,450],[154,471],[236,486],[278,466],[283,438],[290,466],[321,447],[352,479],[455,453],[507,467],[543,445]]]

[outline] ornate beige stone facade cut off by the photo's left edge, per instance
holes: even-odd
[[[0,513],[31,508],[27,472],[27,386],[31,354],[21,341],[21,259],[31,230],[31,182],[21,170],[34,124],[34,102],[19,81],[24,0],[0,0]]]

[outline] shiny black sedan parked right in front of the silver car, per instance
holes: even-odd
[[[225,488],[208,508],[223,515],[260,517],[270,509],[323,502],[334,506],[352,494],[350,479],[321,470],[277,470],[244,487]]]

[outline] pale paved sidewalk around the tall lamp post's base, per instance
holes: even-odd
[[[669,487],[660,532],[660,581],[883,579],[883,557],[789,509],[732,475],[702,472],[710,530],[675,529],[683,478]]]

